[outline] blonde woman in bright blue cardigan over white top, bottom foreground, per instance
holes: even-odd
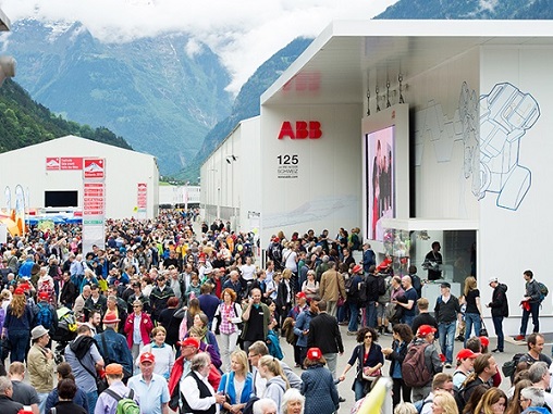
[[[218,392],[224,393],[226,401],[221,411],[238,413],[244,410],[254,391],[254,376],[248,369],[246,352],[238,350],[231,354],[231,372],[223,375]]]

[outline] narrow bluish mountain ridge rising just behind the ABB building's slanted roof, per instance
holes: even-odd
[[[297,38],[286,47],[274,53],[251,75],[239,90],[232,113],[219,122],[206,136],[201,149],[193,163],[175,175],[175,178],[195,181],[199,175],[199,167],[209,154],[243,120],[257,116],[260,113],[259,98],[265,90],[299,57],[314,39]]]

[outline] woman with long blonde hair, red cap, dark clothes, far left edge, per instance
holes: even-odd
[[[33,311],[27,304],[27,298],[23,288],[13,291],[12,302],[5,312],[2,337],[8,337],[11,353],[10,362],[23,362],[25,351],[30,340],[30,327],[33,326]]]

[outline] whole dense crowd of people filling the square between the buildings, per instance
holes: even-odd
[[[417,413],[442,414],[454,389],[457,411],[447,414],[474,413],[482,401],[501,400],[501,376],[487,338],[480,338],[474,277],[467,277],[462,298],[442,283],[432,316],[416,266],[394,275],[390,260],[377,263],[358,228],[341,228],[334,238],[328,230],[275,234],[261,266],[254,234],[232,231],[220,221],[201,224],[196,234],[192,217],[163,211],[152,221],[108,221],[106,246],[90,252],[82,251],[77,225],[30,228],[1,247],[0,351],[2,361],[10,360],[9,373],[0,366],[5,414],[23,405],[34,414],[52,407],[114,414],[123,405],[145,414],[170,409],[331,414],[344,401],[336,384],[352,368],[352,390],[360,402],[386,375],[385,361],[396,410],[419,402]],[[527,290],[533,303],[529,284],[531,277]],[[488,305],[500,334],[508,314],[506,287],[497,279],[490,286],[494,297]],[[454,359],[462,321],[464,348]],[[340,325],[358,342],[342,373],[336,372],[344,353]],[[379,335],[391,335],[392,346],[382,348]],[[529,356],[517,361],[514,391],[504,398],[504,407],[517,399],[514,414],[524,407],[520,396],[536,391],[538,381],[516,387],[529,378],[521,364],[531,371],[539,366],[533,362],[543,361],[534,352],[540,338],[528,337]],[[282,361],[285,342],[294,367]],[[503,347],[501,333],[493,351]],[[453,365],[453,375],[443,373]],[[22,381],[26,373],[30,386]],[[472,391],[482,387],[472,401]],[[532,396],[533,407],[541,400]],[[491,413],[488,406],[481,412]]]

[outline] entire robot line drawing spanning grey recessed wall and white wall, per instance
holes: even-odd
[[[439,163],[450,162],[455,141],[463,141],[463,175],[471,178],[474,196],[481,200],[491,192],[499,208],[517,210],[531,186],[530,170],[518,163],[520,139],[539,117],[536,99],[509,83],[478,99],[464,81],[452,118],[433,100],[416,113],[415,165],[421,164],[427,138]]]

